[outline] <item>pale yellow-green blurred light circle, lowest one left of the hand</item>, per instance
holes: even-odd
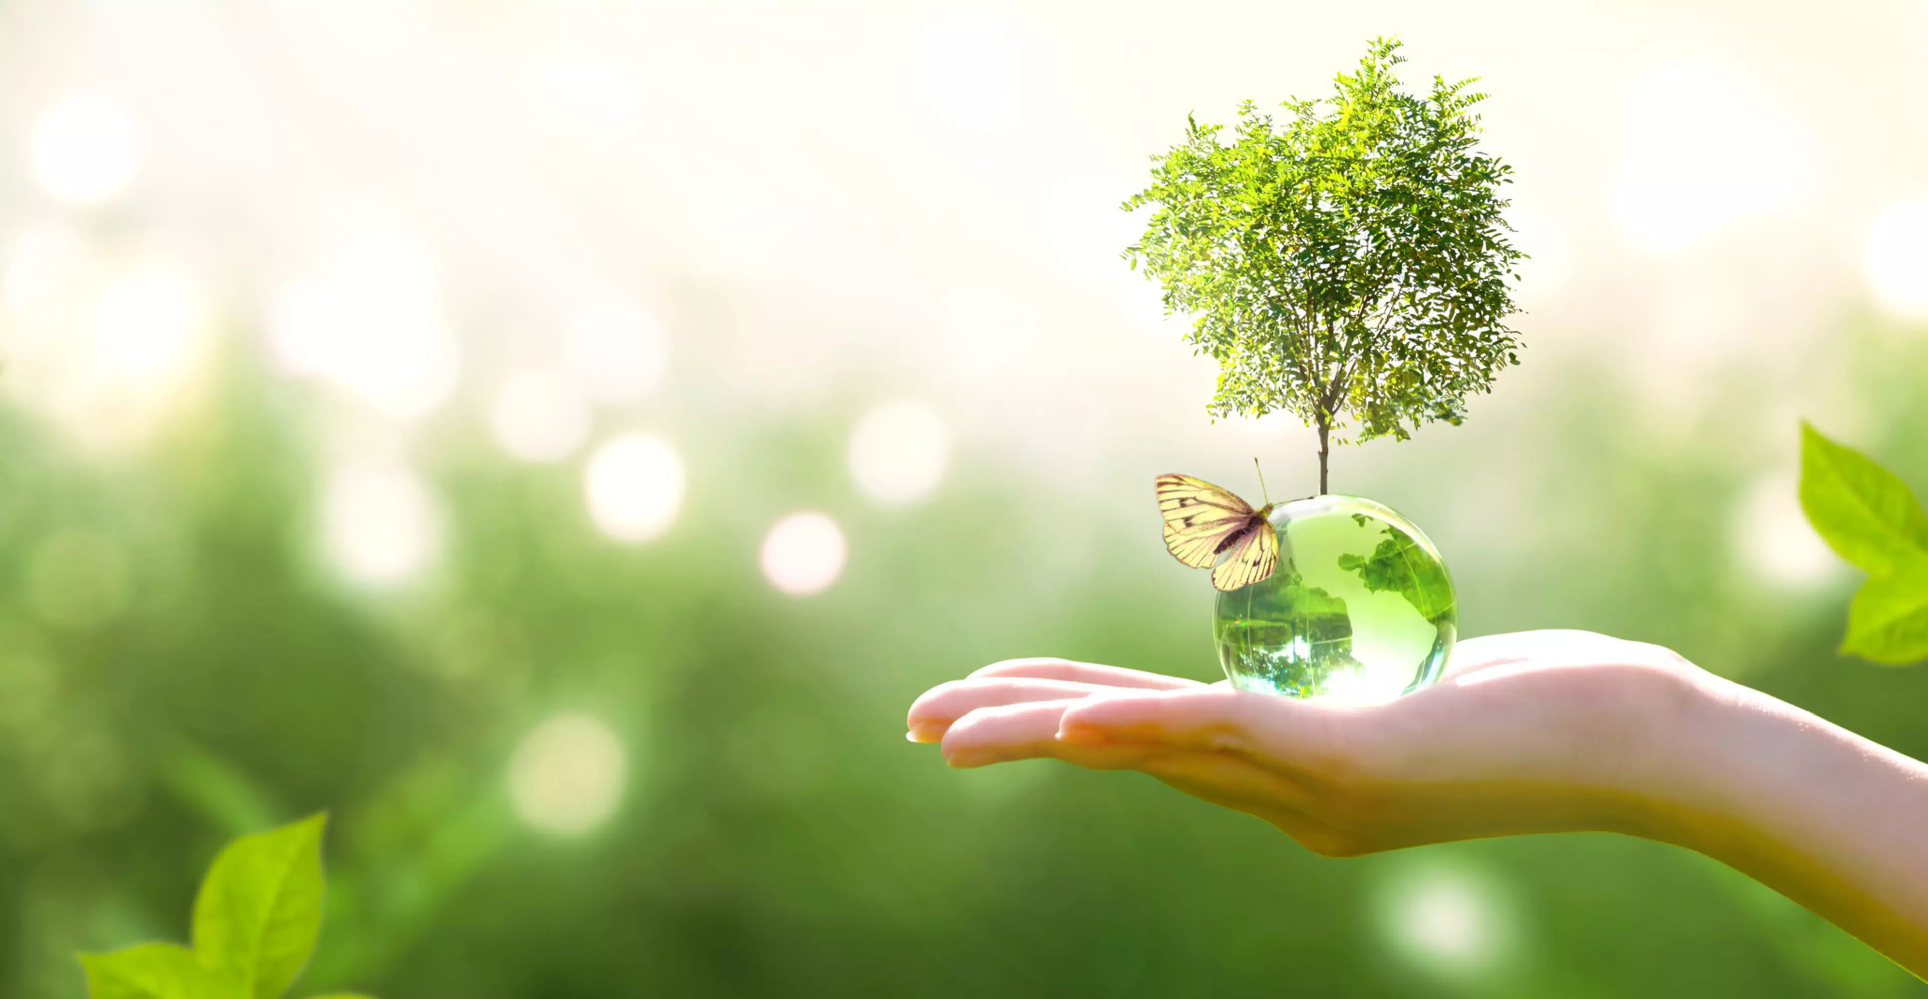
[[[522,822],[582,835],[623,802],[629,752],[609,725],[584,714],[553,716],[522,737],[509,760],[509,798]]]

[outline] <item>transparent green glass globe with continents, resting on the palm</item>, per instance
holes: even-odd
[[[1278,569],[1218,594],[1218,665],[1240,690],[1384,702],[1431,687],[1459,617],[1433,542],[1357,496],[1280,503]]]

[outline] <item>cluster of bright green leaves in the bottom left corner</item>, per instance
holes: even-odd
[[[322,930],[326,824],[326,816],[310,816],[229,843],[195,899],[195,949],[143,943],[110,955],[81,955],[93,999],[278,999],[285,993]]]

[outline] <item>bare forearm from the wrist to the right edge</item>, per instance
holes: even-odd
[[[1928,976],[1928,766],[1714,677],[1677,719],[1650,833]]]

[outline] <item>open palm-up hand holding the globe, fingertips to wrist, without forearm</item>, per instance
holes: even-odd
[[[1049,756],[1141,770],[1352,856],[1550,831],[1652,835],[1677,719],[1712,683],[1677,654],[1583,631],[1469,638],[1446,677],[1348,706],[1064,660],[925,692],[910,739],[956,768]]]

